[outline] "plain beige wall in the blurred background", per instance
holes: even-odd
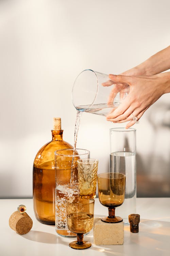
[[[73,144],[75,77],[118,74],[170,44],[170,1],[0,1],[0,197],[32,197],[32,165],[61,116]],[[83,113],[78,147],[109,166],[105,117]],[[123,125],[124,126],[124,125]],[[170,196],[170,94],[140,119],[137,196]]]

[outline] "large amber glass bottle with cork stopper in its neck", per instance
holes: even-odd
[[[37,220],[43,224],[55,225],[55,161],[54,152],[73,148],[63,141],[61,118],[54,118],[52,141],[38,151],[33,165],[33,204]]]

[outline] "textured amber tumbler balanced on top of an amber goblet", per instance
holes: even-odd
[[[78,179],[79,179],[79,196],[81,198],[96,197],[97,183],[97,159],[79,159],[77,160]]]

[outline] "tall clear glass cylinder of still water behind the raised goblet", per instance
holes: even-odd
[[[110,172],[126,175],[125,200],[117,210],[124,224],[136,213],[136,129],[110,129]]]

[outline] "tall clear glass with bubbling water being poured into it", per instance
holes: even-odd
[[[55,151],[55,229],[65,237],[76,235],[67,228],[65,200],[79,198],[77,160],[89,158],[90,152],[83,149]]]

